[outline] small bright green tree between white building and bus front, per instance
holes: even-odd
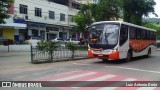
[[[76,16],[73,17],[75,23],[77,23],[77,29],[80,32],[80,38],[82,38],[82,33],[85,32],[85,28],[93,23],[93,17],[91,14],[91,4],[82,4],[80,6],[80,11]]]

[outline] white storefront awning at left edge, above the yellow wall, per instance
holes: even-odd
[[[20,24],[20,23],[0,24],[0,28],[7,28],[7,27],[13,27],[15,29],[25,29],[27,27],[27,25],[26,24]]]

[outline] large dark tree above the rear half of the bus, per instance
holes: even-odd
[[[142,25],[142,16],[154,13],[154,0],[122,0],[123,19],[125,22]],[[155,14],[156,15],[156,14]]]

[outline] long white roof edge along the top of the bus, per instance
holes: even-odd
[[[129,26],[133,26],[133,27],[138,27],[138,28],[150,30],[150,31],[156,31],[154,29],[146,28],[146,27],[143,27],[143,26],[139,26],[139,25],[135,25],[135,24],[132,24],[132,23],[123,22],[123,21],[100,21],[100,22],[95,22],[92,25],[103,24],[103,23],[119,23],[119,24],[125,24],[125,25],[129,25]]]

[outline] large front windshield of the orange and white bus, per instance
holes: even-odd
[[[89,46],[91,48],[113,49],[118,43],[119,24],[97,24],[90,28]]]

